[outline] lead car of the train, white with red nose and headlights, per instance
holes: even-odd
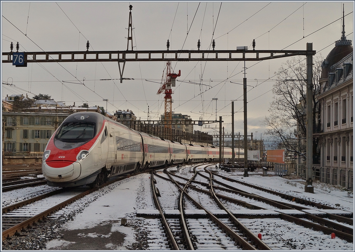
[[[42,172],[50,186],[102,184],[144,162],[142,136],[97,112],[68,116],[49,139]]]

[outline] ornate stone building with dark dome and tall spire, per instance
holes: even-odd
[[[321,182],[348,189],[353,189],[353,59],[351,40],[345,37],[343,9],[342,37],[322,63],[317,99],[323,132],[313,137],[320,138]]]

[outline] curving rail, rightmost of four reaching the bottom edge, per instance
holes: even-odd
[[[213,195],[214,200],[217,202],[217,204],[219,205],[220,208],[222,208],[224,211],[226,211],[228,213],[228,216],[230,218],[230,220],[234,223],[234,225],[236,225],[239,230],[244,233],[245,236],[247,236],[252,243],[259,249],[259,250],[272,250],[269,246],[267,246],[262,240],[260,240],[252,231],[250,231],[246,226],[244,226],[243,223],[241,223],[235,216],[233,213],[231,213],[229,211],[228,208],[226,208],[224,206],[224,204],[219,200],[219,198],[217,197],[217,194],[214,191],[214,186],[213,186],[213,180],[212,180],[212,173],[210,173],[210,177],[209,177],[209,181],[210,181],[210,189]]]

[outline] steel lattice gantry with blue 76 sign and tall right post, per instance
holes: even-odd
[[[307,103],[312,103],[312,43],[307,43],[307,50],[157,50],[157,51],[61,51],[61,52],[23,52],[24,64],[44,62],[118,62],[120,82],[123,80],[125,63],[129,61],[262,61],[276,58],[304,55],[307,57]],[[11,49],[12,50],[12,49]],[[15,52],[3,52],[2,63],[12,63]],[[18,53],[18,51],[16,52]],[[250,57],[248,57],[250,56]],[[122,69],[121,65],[122,63]],[[246,80],[246,78],[244,78]],[[244,86],[246,84],[244,83]],[[246,88],[245,88],[246,89]],[[245,99],[246,100],[246,99]],[[246,101],[245,101],[246,103]],[[308,104],[310,104],[308,103]],[[245,116],[246,116],[246,106]],[[312,186],[312,106],[307,106],[307,169],[306,192],[313,192]],[[220,117],[220,142],[222,140],[222,117]],[[245,130],[246,131],[246,130]],[[244,135],[247,135],[246,132]],[[221,151],[221,150],[220,150]],[[220,159],[221,162],[221,159]]]

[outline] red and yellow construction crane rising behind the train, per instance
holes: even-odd
[[[164,71],[165,72],[165,71]],[[166,74],[165,74],[165,79],[164,79],[164,72],[162,76],[162,85],[160,86],[157,95],[161,94],[164,92],[164,100],[165,100],[165,108],[164,108],[164,128],[171,128],[171,120],[172,118],[172,105],[173,105],[173,99],[171,98],[171,95],[174,94],[174,91],[171,90],[172,86],[175,85],[176,78],[181,75],[181,71],[179,70],[179,73],[172,73],[171,72],[171,62],[168,61],[166,63]]]

